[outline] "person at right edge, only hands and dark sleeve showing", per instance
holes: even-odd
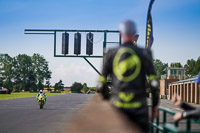
[[[198,78],[195,79],[194,82],[198,83],[198,86],[200,88],[200,73],[199,73]],[[179,121],[184,118],[200,118],[200,108],[195,108],[193,106],[190,106],[189,104],[182,102],[182,99],[180,96],[174,95],[172,97],[172,102],[175,105],[180,106],[181,108],[184,109],[182,113],[176,113],[174,115],[175,121]]]

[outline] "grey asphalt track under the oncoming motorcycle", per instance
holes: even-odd
[[[0,133],[60,133],[92,96],[47,96],[44,109],[39,109],[35,97],[1,100]]]

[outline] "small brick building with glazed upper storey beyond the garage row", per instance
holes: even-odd
[[[160,95],[168,95],[168,85],[172,82],[185,79],[185,68],[168,67],[166,74],[161,76]]]

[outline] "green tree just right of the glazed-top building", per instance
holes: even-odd
[[[190,59],[187,60],[187,64],[185,64],[184,68],[185,68],[185,75],[187,76],[187,78],[191,78],[195,75],[197,75],[197,73],[195,72],[195,65],[196,65],[196,61],[194,59]]]

